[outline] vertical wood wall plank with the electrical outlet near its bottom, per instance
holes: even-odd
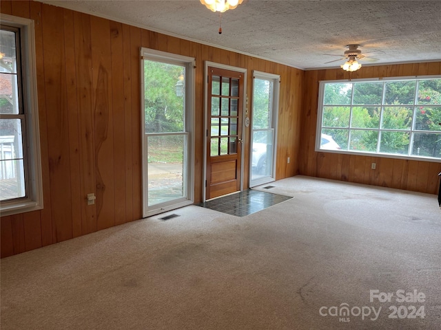
[[[90,17],[74,12],[75,71],[79,105],[79,146],[81,173],[81,233],[96,231],[96,204],[88,205],[86,197],[95,193],[95,146],[92,94],[92,41]]]

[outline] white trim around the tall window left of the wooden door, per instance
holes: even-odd
[[[141,47],[141,153],[142,159],[147,159],[146,146],[147,139],[145,137],[145,111],[144,111],[144,59],[151,61],[159,61],[164,63],[171,63],[176,65],[185,65],[187,71],[185,78],[186,84],[191,86],[192,91],[185,99],[185,132],[181,134],[186,135],[189,139],[189,150],[187,155],[187,196],[182,197],[168,203],[161,204],[161,208],[149,208],[148,200],[145,192],[143,191],[143,218],[151,217],[155,214],[174,210],[176,208],[182,208],[183,206],[191,205],[194,203],[194,104],[195,104],[195,68],[196,60],[189,56],[183,56],[178,54],[172,54],[167,52],[161,52],[159,50],[152,50],[150,48]],[[174,134],[174,133],[172,133]],[[143,176],[143,190],[148,186],[148,167],[147,162],[143,161],[142,176]]]

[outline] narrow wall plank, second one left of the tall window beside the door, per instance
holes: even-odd
[[[125,222],[133,221],[132,165],[132,47],[130,26],[123,24],[124,135],[125,135]]]

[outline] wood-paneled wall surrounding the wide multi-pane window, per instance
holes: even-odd
[[[314,150],[318,83],[320,80],[426,76],[433,74],[441,74],[441,62],[362,67],[359,71],[353,72],[351,76],[341,69],[305,72],[304,94],[302,97],[300,174],[427,192],[429,194],[438,193],[437,175],[441,172],[440,162],[341,155]],[[371,163],[373,162],[376,163],[376,170],[371,169]]]

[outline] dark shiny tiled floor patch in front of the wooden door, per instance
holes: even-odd
[[[235,215],[236,217],[245,217],[291,198],[292,197],[290,196],[276,195],[271,194],[270,192],[248,189],[237,192],[236,194],[211,199],[205,201],[205,203],[198,203],[195,205]]]

